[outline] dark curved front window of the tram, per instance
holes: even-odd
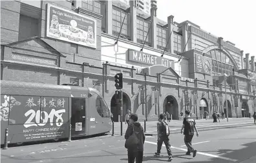
[[[109,108],[107,108],[107,104],[104,99],[100,96],[95,94],[96,97],[96,110],[98,111],[100,117],[110,117]]]

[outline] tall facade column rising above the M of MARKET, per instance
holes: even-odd
[[[131,41],[137,43],[137,9],[135,1],[129,1],[131,9]],[[128,20],[128,19],[127,19]]]

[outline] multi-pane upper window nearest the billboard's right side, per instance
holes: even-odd
[[[123,21],[124,17],[125,17],[125,20]],[[121,11],[115,10],[113,8],[113,10],[112,10],[112,30],[114,32],[119,33],[122,23],[123,23],[123,27],[122,27],[121,33],[124,35],[127,35],[127,16],[125,16],[125,12],[121,12]]]

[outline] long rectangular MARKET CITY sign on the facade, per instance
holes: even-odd
[[[174,61],[165,59],[163,57],[158,57],[156,55],[150,55],[144,52],[138,52],[136,50],[128,50],[128,59],[129,61],[133,62],[140,62],[142,64],[149,64],[149,65],[157,65],[161,64],[166,67],[174,68]]]

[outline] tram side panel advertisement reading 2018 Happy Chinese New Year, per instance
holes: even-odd
[[[1,127],[8,126],[10,143],[67,137],[68,113],[67,97],[1,95]]]

